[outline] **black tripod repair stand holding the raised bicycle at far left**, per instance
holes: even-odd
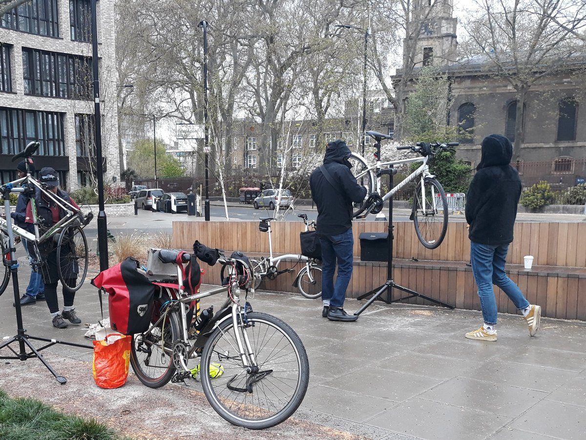
[[[68,346],[74,347],[81,347],[81,348],[90,348],[93,350],[94,347],[86,346],[82,344],[74,344],[71,342],[63,342],[58,341],[56,339],[46,339],[42,337],[30,336],[30,334],[26,334],[26,330],[22,327],[22,309],[21,309],[21,293],[18,289],[18,262],[16,261],[16,248],[14,243],[14,233],[12,232],[12,219],[10,216],[10,193],[11,192],[24,192],[25,188],[12,188],[11,184],[4,185],[0,187],[0,192],[2,193],[2,198],[4,198],[4,212],[6,213],[6,233],[8,234],[8,249],[6,251],[10,252],[10,259],[5,261],[5,264],[9,266],[10,273],[12,276],[12,286],[14,290],[14,305],[16,307],[16,327],[17,333],[16,336],[13,336],[11,339],[3,342],[0,344],[0,350],[4,347],[8,347],[15,356],[0,356],[0,359],[18,359],[21,361],[26,361],[29,358],[39,358],[39,360],[47,367],[47,369],[54,375],[57,379],[57,382],[60,384],[64,384],[67,382],[67,379],[63,376],[60,376],[53,370],[53,367],[47,363],[45,358],[39,352],[44,350],[45,348],[51,347],[54,344],[65,344]],[[32,269],[31,269],[32,270]],[[46,346],[35,348],[30,343],[29,339],[34,339],[38,341],[45,341],[49,342]],[[12,343],[19,344],[19,351],[17,352],[14,348],[11,347]],[[30,348],[29,353],[26,352],[25,346]]]

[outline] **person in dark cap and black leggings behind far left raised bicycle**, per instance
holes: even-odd
[[[39,180],[43,185],[43,188],[47,191],[53,192],[57,197],[62,198],[73,207],[79,209],[76,202],[69,197],[69,194],[59,188],[59,177],[57,177],[57,172],[53,168],[42,168],[39,173]],[[29,201],[29,204],[26,207],[25,221],[29,224],[33,223],[32,202],[33,199]],[[37,192],[34,202],[36,204],[39,219],[43,219],[42,224],[39,225],[39,228],[43,230],[49,229],[66,215],[66,212],[61,207],[57,206],[55,202],[45,197],[41,192]],[[45,299],[47,301],[47,306],[49,307],[53,326],[57,327],[57,329],[65,329],[69,325],[66,323],[65,319],[69,320],[72,324],[81,324],[81,319],[77,316],[75,307],[73,306],[75,292],[68,289],[67,286],[63,286],[63,312],[59,311],[59,300],[57,299],[59,272],[57,269],[56,241],[58,236],[55,235],[53,238],[53,240],[50,239],[39,244],[39,251],[43,260],[41,272],[43,275],[43,282],[45,282]],[[67,255],[67,249],[61,249],[61,252],[62,255]],[[64,266],[70,271],[70,273],[64,274],[64,276],[66,276],[67,279],[71,279],[71,282],[66,282],[66,284],[74,285],[74,280],[77,279],[77,270],[79,270],[79,268],[72,267],[74,265]]]

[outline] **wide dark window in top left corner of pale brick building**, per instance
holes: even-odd
[[[2,16],[0,27],[59,38],[57,0],[32,0],[16,6]]]

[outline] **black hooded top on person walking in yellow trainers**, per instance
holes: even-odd
[[[482,155],[466,195],[470,241],[502,245],[513,241],[513,225],[521,196],[521,180],[509,165],[513,145],[500,134],[482,141]]]

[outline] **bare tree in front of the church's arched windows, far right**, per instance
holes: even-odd
[[[478,15],[466,30],[483,54],[487,75],[515,89],[513,160],[520,158],[527,92],[543,77],[570,67],[583,46],[575,35],[586,25],[586,4],[573,0],[475,0]],[[572,18],[568,20],[568,12]],[[560,25],[563,23],[563,25]]]

